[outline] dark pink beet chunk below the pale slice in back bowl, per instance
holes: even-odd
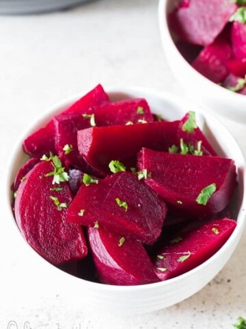
[[[204,77],[217,84],[228,75],[228,61],[232,58],[233,53],[229,42],[223,38],[217,38],[213,43],[204,47],[192,62],[192,66]]]

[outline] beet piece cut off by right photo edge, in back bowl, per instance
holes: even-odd
[[[235,58],[243,60],[246,58],[246,24],[235,21],[231,30],[232,49]]]

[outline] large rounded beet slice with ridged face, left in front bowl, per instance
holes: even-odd
[[[51,162],[36,164],[17,191],[14,213],[16,223],[29,245],[50,263],[59,265],[83,258],[87,246],[81,228],[66,223],[67,208],[57,209],[51,196],[60,203],[70,204],[72,195],[68,182],[52,184],[53,176],[45,177],[53,171]],[[51,188],[62,191],[51,191]]]

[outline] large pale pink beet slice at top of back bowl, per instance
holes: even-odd
[[[187,2],[187,1],[186,1]],[[237,6],[230,0],[190,0],[169,15],[178,36],[195,45],[210,45],[228,23]]]

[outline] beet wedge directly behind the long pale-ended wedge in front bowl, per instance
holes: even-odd
[[[77,131],[96,125],[125,125],[126,123],[152,122],[153,117],[145,99],[126,99],[115,103],[94,106],[85,113],[60,114],[53,119],[55,123],[55,148],[63,156],[67,165],[81,171],[92,172],[81,157],[77,147]],[[67,151],[64,151],[66,149]]]

